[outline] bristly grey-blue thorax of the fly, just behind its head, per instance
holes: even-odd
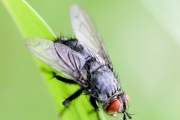
[[[97,61],[92,61],[89,65],[89,87],[85,92],[97,101],[104,102],[120,90],[120,85],[107,66]]]

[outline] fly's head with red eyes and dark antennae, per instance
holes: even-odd
[[[129,101],[129,95],[125,93],[114,95],[103,105],[104,110],[111,116],[115,117],[117,113],[122,113],[124,114],[123,120],[126,120],[126,116],[131,119],[132,117],[126,111]]]

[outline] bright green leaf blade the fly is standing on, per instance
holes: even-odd
[[[21,0],[4,0],[3,3],[9,10],[12,17],[14,18],[14,21],[20,29],[24,39],[31,37],[39,37],[54,40],[56,38],[55,34],[52,32],[50,27],[27,2]],[[40,65],[40,67],[49,69],[46,65],[42,64],[41,62],[38,62],[38,64]],[[64,98],[62,96],[69,97],[79,87],[61,83],[55,79],[48,80],[49,76],[50,75],[46,73],[46,82],[50,90],[52,91],[59,111],[62,111],[64,110],[64,106],[62,105]],[[97,119],[95,112],[90,113],[93,110],[93,108],[89,104],[86,95],[81,95],[75,102],[76,104],[73,104],[72,102],[70,105],[70,109],[66,110],[62,116],[60,115],[61,119]],[[100,115],[103,118],[102,113],[100,113]]]

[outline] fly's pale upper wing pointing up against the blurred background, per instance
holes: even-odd
[[[112,62],[90,16],[78,5],[71,7],[70,16],[75,36],[80,44],[83,45],[85,50],[94,56],[97,61],[107,65],[112,70]]]

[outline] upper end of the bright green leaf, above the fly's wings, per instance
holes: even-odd
[[[3,2],[24,38],[39,37],[54,39],[56,37],[45,21],[25,1],[4,0]]]

